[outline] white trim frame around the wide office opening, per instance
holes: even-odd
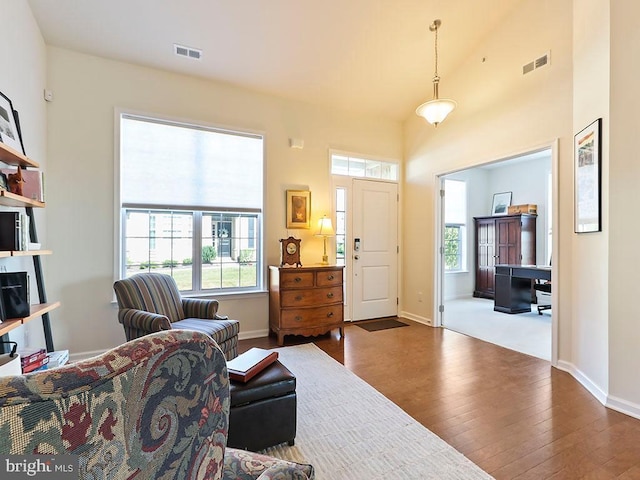
[[[463,168],[456,168],[453,170],[443,171],[436,174],[436,185],[435,189],[435,269],[434,269],[434,291],[433,291],[433,326],[434,327],[442,327],[443,322],[443,313],[441,310],[441,306],[445,305],[444,300],[444,202],[442,200],[441,191],[444,189],[444,177],[451,173],[456,173],[462,170],[469,170],[475,167],[481,167],[483,165],[489,165],[492,163],[499,163],[505,160],[510,160],[516,157],[521,157],[524,155],[528,155],[531,153],[539,152],[541,150],[551,150],[551,212],[552,212],[552,220],[551,220],[551,231],[553,232],[551,236],[551,252],[559,252],[559,241],[558,241],[558,139],[554,139],[550,142],[537,145],[519,152],[516,152],[512,155],[507,155],[505,157],[501,157],[499,159],[487,160],[483,162],[473,163],[467,165]],[[551,265],[551,278],[559,278],[558,277],[558,265],[559,261],[556,259],[552,262]],[[556,282],[557,285],[557,282]],[[551,304],[558,305],[558,288],[554,286],[551,292]],[[558,308],[551,309],[551,365],[558,365]]]

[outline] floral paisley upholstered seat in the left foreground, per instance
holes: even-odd
[[[0,378],[3,455],[76,455],[82,479],[313,479],[311,465],[226,448],[228,419],[224,355],[196,331]]]

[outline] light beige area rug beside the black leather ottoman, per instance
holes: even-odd
[[[315,345],[276,350],[296,376],[298,429],[268,455],[312,464],[317,480],[492,478]]]

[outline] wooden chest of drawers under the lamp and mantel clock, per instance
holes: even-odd
[[[269,328],[285,335],[343,334],[342,270],[338,266],[269,267]]]

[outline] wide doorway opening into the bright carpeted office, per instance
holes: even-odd
[[[541,310],[540,314],[537,309],[537,302],[551,303],[550,297],[536,297],[532,284],[531,312],[509,314],[494,311],[493,290],[495,264],[551,265],[553,219],[557,218],[555,172],[554,143],[439,176],[442,191],[436,223],[441,248],[437,255],[436,325],[555,361],[554,309]],[[510,196],[511,206],[535,205],[537,213],[514,217],[514,212],[509,215],[509,205],[505,211],[494,212],[495,196]],[[533,222],[534,227],[527,233],[518,233],[518,221],[523,218]],[[491,228],[495,222],[507,225],[510,219],[516,227]],[[518,235],[522,237],[514,240]],[[518,244],[520,241],[525,243]],[[527,244],[532,245],[533,251],[527,253],[526,249],[531,248]],[[511,252],[508,261],[504,260],[507,251]],[[514,251],[517,259],[512,255]]]

